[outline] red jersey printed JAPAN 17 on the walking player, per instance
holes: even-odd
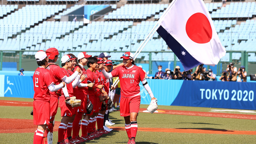
[[[121,96],[132,97],[140,95],[139,82],[145,79],[145,72],[142,68],[133,65],[127,69],[126,66],[118,66],[111,72],[113,78],[119,77],[121,86]]]

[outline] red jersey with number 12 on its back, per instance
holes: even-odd
[[[48,86],[53,84],[50,72],[39,66],[33,75],[34,100],[50,102],[50,92]]]

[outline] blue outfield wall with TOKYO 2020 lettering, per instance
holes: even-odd
[[[0,96],[33,98],[32,76],[0,75]],[[255,82],[147,80],[159,105],[256,110]],[[140,83],[141,103],[149,104]]]

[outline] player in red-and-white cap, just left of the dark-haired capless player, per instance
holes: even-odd
[[[81,100],[81,106],[78,107],[78,114],[76,114],[74,122],[73,122],[73,139],[76,142],[85,142],[87,139],[84,139],[82,137],[79,137],[79,131],[80,131],[80,127],[82,127],[82,134],[85,133],[85,131],[87,131],[87,123],[86,120],[88,122],[88,116],[84,116],[85,119],[83,119],[83,121],[81,121],[82,116],[84,115],[84,113],[86,113],[86,106],[87,106],[87,97],[88,97],[88,87],[92,87],[94,86],[94,83],[91,82],[89,84],[87,84],[87,73],[86,70],[84,68],[84,65],[87,64],[88,62],[88,58],[90,58],[91,55],[88,55],[86,52],[81,52],[78,54],[78,64],[76,65],[76,67],[74,68],[74,70],[76,69],[80,69],[82,71],[82,74],[85,75],[85,80],[82,81],[79,85],[77,89],[74,89],[74,94],[76,96],[77,99]],[[85,135],[86,136],[86,135]]]

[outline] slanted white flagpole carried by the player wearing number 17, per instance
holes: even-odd
[[[137,51],[134,53],[134,56],[137,54],[137,52],[140,50],[140,48],[143,46],[143,44],[145,43],[145,41],[148,39],[148,37],[150,36],[150,34],[153,32],[153,34],[151,35],[151,37],[154,35],[154,33],[156,32],[156,30],[160,27],[160,25],[155,29],[155,27],[160,23],[160,20],[162,19],[162,17],[164,17],[164,15],[166,14],[166,12],[170,9],[170,7],[174,4],[174,2],[171,2],[171,4],[166,8],[164,14],[159,18],[158,22],[156,23],[156,25],[152,28],[152,30],[149,32],[148,36],[144,39],[144,41],[142,42],[142,44],[140,45],[140,47],[137,49]],[[149,40],[151,39],[151,37],[149,38]],[[149,42],[149,40],[145,43],[145,45]],[[143,46],[143,48],[145,47],[145,45]],[[142,48],[142,49],[143,49]],[[139,51],[139,53],[142,51],[142,49]],[[136,57],[133,59],[135,60],[139,53],[136,55]],[[116,87],[117,83],[119,82],[119,77],[117,77],[117,79],[114,81],[113,85],[114,87]]]

